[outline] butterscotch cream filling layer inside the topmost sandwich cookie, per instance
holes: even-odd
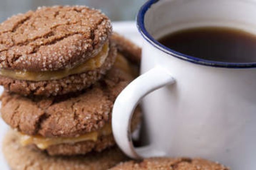
[[[6,70],[0,69],[0,75],[10,77],[19,80],[28,81],[44,81],[44,80],[56,80],[69,75],[80,74],[85,71],[94,70],[100,68],[105,62],[109,52],[109,43],[103,45],[102,50],[96,54],[93,58],[87,60],[85,63],[75,66],[74,68],[66,68],[60,71],[19,71],[19,70]]]

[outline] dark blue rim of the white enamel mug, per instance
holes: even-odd
[[[148,41],[150,44],[152,44],[154,47],[158,48],[159,50],[170,54],[176,58],[180,58],[185,61],[189,61],[195,64],[199,65],[206,65],[206,66],[212,66],[212,67],[221,67],[221,68],[256,68],[256,62],[250,62],[250,63],[232,63],[232,62],[221,62],[221,61],[211,61],[211,60],[204,60],[201,58],[192,57],[190,55],[182,54],[178,51],[174,51],[171,48],[167,48],[163,44],[159,43],[154,39],[149,32],[146,30],[144,19],[146,12],[150,9],[150,7],[157,3],[159,0],[148,0],[146,3],[142,5],[142,7],[139,10],[139,13],[136,17],[136,24],[137,28],[139,30],[139,33],[142,35],[142,37],[145,38],[146,41]]]

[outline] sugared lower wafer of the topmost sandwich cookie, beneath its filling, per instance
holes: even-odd
[[[93,83],[97,82],[106,71],[109,70],[116,58],[117,49],[113,43],[109,55],[104,64],[97,69],[86,71],[81,74],[69,75],[68,77],[48,81],[26,81],[0,76],[0,85],[3,85],[7,92],[14,92],[19,95],[64,95],[70,92],[82,91]]]

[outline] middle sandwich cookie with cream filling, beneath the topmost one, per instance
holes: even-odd
[[[33,145],[50,155],[100,152],[115,144],[111,111],[117,95],[134,79],[132,72],[128,61],[118,54],[102,80],[77,94],[41,98],[4,92],[2,118],[19,132],[23,146]],[[139,120],[136,109],[133,129]]]

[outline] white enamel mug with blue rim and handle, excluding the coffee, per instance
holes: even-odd
[[[141,75],[117,97],[112,115],[124,153],[135,159],[202,157],[233,170],[256,170],[256,63],[207,61],[156,41],[202,26],[256,34],[256,1],[149,0],[137,25],[144,39]],[[130,134],[139,101],[150,143],[143,148],[133,146]]]

